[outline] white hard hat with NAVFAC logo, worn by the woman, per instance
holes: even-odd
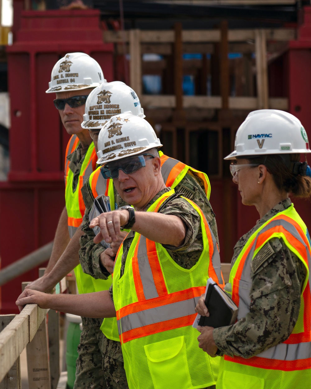
[[[250,112],[239,126],[234,151],[224,159],[309,152],[308,135],[297,117],[277,109],[260,109]]]

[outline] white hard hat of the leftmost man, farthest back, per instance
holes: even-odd
[[[84,53],[68,53],[56,62],[45,93],[94,88],[104,79],[100,65]]]

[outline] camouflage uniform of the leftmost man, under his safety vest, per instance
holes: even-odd
[[[88,147],[81,147],[79,143],[76,149],[67,156],[70,161],[69,168],[73,172],[73,191],[77,188],[81,166]],[[102,354],[99,348],[101,340],[100,326],[102,319],[89,319],[82,317],[82,333],[78,346],[78,358],[76,361],[76,375],[73,389],[104,389],[107,387],[102,372]]]

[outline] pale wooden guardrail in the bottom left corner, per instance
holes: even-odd
[[[43,272],[39,269],[39,276]],[[27,284],[23,282],[22,289]],[[56,389],[60,376],[59,312],[28,304],[19,315],[0,315],[0,389],[21,388],[20,354],[25,347],[29,388]]]

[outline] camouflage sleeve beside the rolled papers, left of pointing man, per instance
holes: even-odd
[[[95,279],[106,280],[110,273],[101,266],[100,254],[105,251],[103,246],[95,244],[94,231],[89,228],[89,216],[87,212],[83,216],[81,229],[84,235],[80,238],[79,259],[84,273],[91,275]]]

